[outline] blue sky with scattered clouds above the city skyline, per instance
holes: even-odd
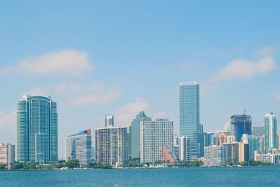
[[[174,121],[179,83],[200,83],[200,122],[280,116],[280,1],[2,1],[0,142],[16,144],[22,95],[51,95],[64,138],[129,125],[140,111]]]

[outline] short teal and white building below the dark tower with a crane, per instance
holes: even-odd
[[[260,150],[260,137],[255,137],[253,135],[243,134],[241,137],[241,142],[248,144],[249,146],[249,160],[254,159],[255,151]]]

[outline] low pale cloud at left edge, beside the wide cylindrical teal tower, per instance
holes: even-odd
[[[15,144],[16,134],[16,113],[0,111],[0,142],[8,141]]]

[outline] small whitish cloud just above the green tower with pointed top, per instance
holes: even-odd
[[[130,124],[139,112],[146,111],[148,107],[148,102],[138,97],[134,102],[130,102],[115,111],[117,125]]]

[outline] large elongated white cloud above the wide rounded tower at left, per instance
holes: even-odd
[[[78,76],[92,69],[87,52],[61,50],[20,60],[11,67],[3,67],[0,74],[20,74],[44,76],[50,74],[69,74]]]

